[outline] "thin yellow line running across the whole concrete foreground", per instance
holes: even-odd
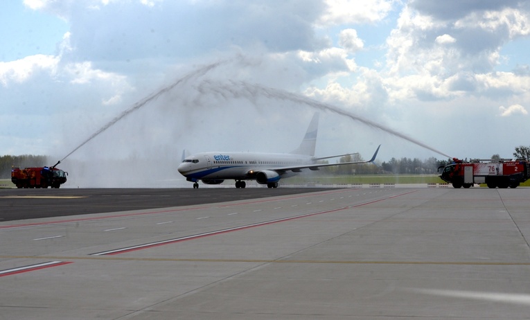
[[[323,263],[346,265],[530,265],[522,262],[487,261],[354,261],[354,260],[266,260],[266,259],[193,259],[193,258],[134,258],[114,256],[0,256],[6,259],[58,260],[117,260],[117,261],[172,261],[192,263]]]

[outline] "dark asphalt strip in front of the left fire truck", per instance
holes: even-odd
[[[313,188],[309,190],[326,189]],[[0,189],[0,221],[211,204],[306,192],[308,192],[308,188],[5,188]]]

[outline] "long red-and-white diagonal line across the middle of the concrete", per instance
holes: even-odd
[[[363,202],[361,204],[354,204],[352,206],[344,206],[344,207],[341,207],[341,208],[334,208],[334,209],[330,209],[330,210],[326,210],[326,211],[319,211],[319,212],[315,212],[315,213],[306,213],[304,215],[295,215],[293,217],[284,217],[284,218],[281,218],[281,219],[270,220],[270,221],[265,221],[265,222],[258,222],[258,223],[255,223],[255,224],[247,224],[245,226],[236,226],[236,227],[229,228],[229,229],[222,229],[222,230],[218,230],[218,231],[211,231],[211,232],[200,233],[200,234],[196,234],[196,235],[187,235],[186,237],[182,237],[182,238],[175,238],[175,239],[164,240],[164,241],[159,241],[159,242],[151,242],[151,243],[146,243],[146,244],[143,244],[143,245],[136,245],[136,246],[133,246],[133,247],[125,247],[125,248],[121,248],[121,249],[102,251],[102,252],[98,252],[96,254],[91,254],[91,256],[114,256],[116,254],[125,254],[125,253],[131,252],[131,251],[138,251],[138,250],[148,249],[148,248],[152,248],[152,247],[160,247],[160,246],[163,246],[163,245],[170,245],[170,244],[174,244],[174,243],[177,243],[177,242],[183,242],[183,241],[187,241],[187,240],[195,240],[195,239],[199,239],[199,238],[205,238],[205,237],[209,237],[211,235],[220,235],[222,233],[229,233],[229,232],[233,232],[233,231],[240,231],[240,230],[255,228],[256,226],[266,226],[268,224],[276,224],[276,223],[279,223],[279,222],[296,220],[296,219],[300,219],[300,218],[303,218],[303,217],[311,217],[313,215],[322,215],[324,213],[332,213],[332,212],[342,211],[342,210],[346,210],[346,209],[350,209],[350,208],[357,208],[359,206],[366,206],[368,204],[374,204],[376,202],[381,202],[381,201],[384,201],[384,200],[387,200],[387,199],[400,197],[402,195],[408,195],[409,193],[414,193],[414,192],[416,192],[416,190],[412,190],[412,191],[409,191],[409,192],[406,192],[406,193],[400,193],[398,195],[390,195],[388,197],[383,197],[383,198],[380,198],[380,199],[371,200],[369,202]]]

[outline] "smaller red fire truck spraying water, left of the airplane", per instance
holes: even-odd
[[[57,166],[61,161],[55,163]],[[17,188],[60,188],[67,181],[68,172],[51,167],[12,168],[11,181]]]

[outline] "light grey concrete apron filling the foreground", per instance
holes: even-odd
[[[530,188],[308,191],[0,222],[0,319],[529,319]]]

